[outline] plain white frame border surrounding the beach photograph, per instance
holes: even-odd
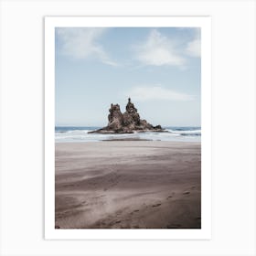
[[[55,27],[201,27],[202,229],[54,229]],[[45,17],[45,239],[208,240],[211,238],[211,18]]]

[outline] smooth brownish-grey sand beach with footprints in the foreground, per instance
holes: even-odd
[[[56,229],[200,229],[199,143],[56,144]]]

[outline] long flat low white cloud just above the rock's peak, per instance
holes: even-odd
[[[135,101],[192,101],[194,97],[161,86],[139,86],[128,94]]]

